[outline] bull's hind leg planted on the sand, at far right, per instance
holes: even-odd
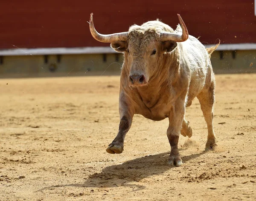
[[[214,91],[215,80],[211,79],[210,82],[208,82],[204,89],[200,92],[200,94],[197,95],[208,129],[207,143],[205,146],[206,151],[214,150],[215,146],[217,146],[216,137],[213,130]]]

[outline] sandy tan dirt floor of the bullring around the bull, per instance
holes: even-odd
[[[198,100],[167,164],[168,119],[136,115],[124,152],[118,76],[0,80],[0,200],[256,200],[256,74],[216,75],[215,151]]]

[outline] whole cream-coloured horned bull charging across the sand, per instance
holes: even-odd
[[[218,45],[205,49],[199,40],[189,35],[178,14],[177,29],[160,20],[133,25],[128,32],[100,34],[90,15],[90,32],[103,43],[111,43],[116,52],[124,54],[119,91],[120,124],[116,138],[106,151],[123,152],[124,139],[134,114],[160,121],[169,118],[167,137],[171,146],[168,163],[182,165],[178,151],[180,134],[192,136],[192,129],[185,119],[186,107],[197,97],[208,136],[205,150],[215,149],[213,130],[213,104],[215,77],[210,61]]]

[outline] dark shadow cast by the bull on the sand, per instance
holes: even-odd
[[[194,155],[183,156],[183,162],[188,162],[194,158],[198,158],[205,152]],[[134,160],[126,161],[119,165],[105,167],[101,173],[90,175],[83,184],[67,184],[45,187],[38,191],[46,190],[53,187],[119,187],[129,186],[142,189],[143,186],[137,185],[134,181],[140,181],[152,175],[160,175],[171,167],[167,164],[169,152],[157,155],[149,155]],[[131,184],[132,183],[132,184]]]

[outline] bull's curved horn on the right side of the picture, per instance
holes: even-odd
[[[189,32],[188,32],[188,29],[186,28],[185,23],[183,22],[180,15],[179,14],[177,14],[177,15],[178,15],[180,26],[181,26],[181,29],[182,29],[182,34],[163,32],[163,33],[161,33],[161,40],[162,41],[172,40],[172,41],[175,41],[175,42],[183,42],[183,41],[185,41],[189,38]]]

